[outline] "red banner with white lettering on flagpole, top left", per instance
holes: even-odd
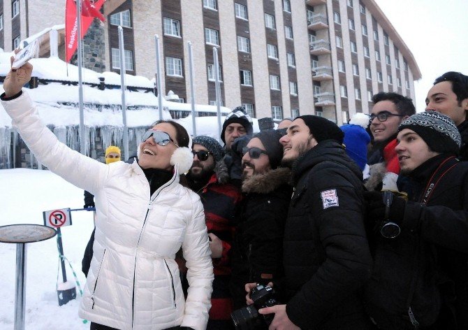
[[[104,16],[99,11],[105,0],[81,0],[81,37],[84,38],[88,31],[89,25],[97,17],[101,21],[105,21]],[[76,2],[75,0],[66,0],[65,13],[65,61],[70,62],[71,57],[75,54],[78,47],[78,20],[76,19]]]

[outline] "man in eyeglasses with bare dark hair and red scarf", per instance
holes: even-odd
[[[369,190],[397,191],[400,173],[397,153],[398,125],[416,113],[413,101],[393,92],[380,92],[372,96],[374,106],[370,113],[370,131],[374,137],[374,152],[369,157],[370,178],[365,183]]]

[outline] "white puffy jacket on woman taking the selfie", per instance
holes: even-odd
[[[2,105],[42,164],[95,196],[94,254],[80,317],[122,330],[205,329],[213,280],[205,217],[199,196],[179,184],[177,166],[150,197],[136,162],[105,165],[71,150],[41,122],[25,92]],[[174,260],[181,245],[187,301]]]

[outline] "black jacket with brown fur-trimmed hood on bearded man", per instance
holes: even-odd
[[[277,168],[242,182],[244,199],[231,259],[235,309],[245,306],[246,283],[268,284],[283,275],[284,223],[293,192],[290,181],[291,170]]]

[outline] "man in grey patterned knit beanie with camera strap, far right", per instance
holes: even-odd
[[[409,201],[366,192],[374,269],[365,287],[379,329],[468,329],[468,162],[461,137],[441,113],[416,113],[395,148],[415,191]],[[394,238],[385,238],[388,222]],[[372,232],[372,231],[371,231]],[[399,233],[399,234],[398,234]]]

